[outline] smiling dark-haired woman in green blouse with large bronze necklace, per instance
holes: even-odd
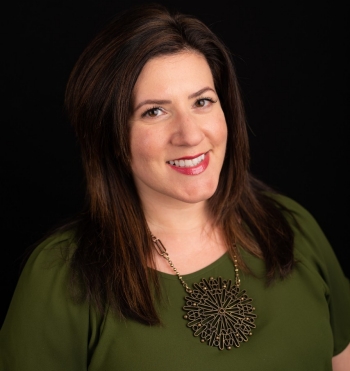
[[[349,369],[348,280],[312,216],[249,173],[230,54],[202,22],[120,14],[66,106],[86,208],[29,257],[1,370]]]

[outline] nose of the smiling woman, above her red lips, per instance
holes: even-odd
[[[205,137],[200,117],[190,113],[176,115],[173,129],[171,142],[176,146],[196,146]]]

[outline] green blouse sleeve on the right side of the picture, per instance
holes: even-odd
[[[299,227],[292,222],[295,230],[295,246],[304,250],[295,251],[295,256],[310,270],[319,274],[326,286],[326,299],[329,307],[329,321],[333,332],[333,355],[341,353],[350,342],[350,281],[331,247],[327,237],[315,218],[297,202],[279,197],[296,218]],[[307,244],[299,244],[298,239],[306,239]]]

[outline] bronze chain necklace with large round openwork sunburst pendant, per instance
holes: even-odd
[[[169,258],[162,241],[152,236],[156,251],[174,270],[182,286],[187,292],[186,305],[183,309],[187,326],[192,328],[193,335],[199,336],[202,343],[217,347],[220,350],[238,348],[240,343],[247,342],[255,328],[252,299],[245,290],[240,290],[240,278],[237,258],[234,256],[235,283],[221,277],[202,278],[199,283],[188,287],[178,270]]]

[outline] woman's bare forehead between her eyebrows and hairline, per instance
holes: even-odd
[[[191,93],[203,85],[214,89],[213,76],[205,57],[197,52],[184,51],[150,59],[136,81],[134,95],[153,90],[163,93],[188,90]]]

